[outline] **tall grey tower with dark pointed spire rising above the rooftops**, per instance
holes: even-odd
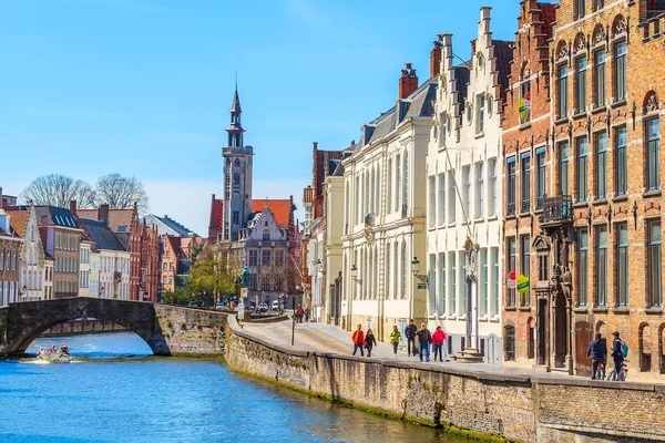
[[[241,122],[243,110],[236,82],[231,103],[228,144],[222,150],[224,158],[224,239],[237,241],[239,230],[247,226],[252,210],[252,146],[244,146],[245,130]]]

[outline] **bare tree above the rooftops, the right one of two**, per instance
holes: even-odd
[[[108,203],[111,208],[131,208],[135,200],[139,213],[146,214],[150,209],[147,194],[136,177],[123,177],[120,174],[104,175],[98,179],[96,196],[98,203]]]

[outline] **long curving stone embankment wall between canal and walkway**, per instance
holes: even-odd
[[[282,348],[229,316],[229,367],[355,406],[487,440],[665,441],[665,385],[536,379]]]

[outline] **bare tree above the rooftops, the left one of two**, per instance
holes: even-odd
[[[35,205],[59,207],[69,207],[70,200],[75,199],[81,208],[94,207],[96,199],[94,188],[86,182],[60,174],[37,177],[20,197],[25,203],[32,200]]]

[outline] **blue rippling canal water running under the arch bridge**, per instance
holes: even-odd
[[[438,442],[444,433],[233,373],[151,357],[132,332],[40,338],[70,363],[0,362],[0,442]]]

